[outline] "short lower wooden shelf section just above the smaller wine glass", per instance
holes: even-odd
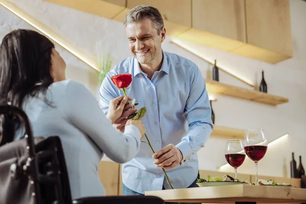
[[[245,130],[242,130],[242,129],[214,125],[214,129],[211,135],[227,137],[228,139],[231,139],[231,138],[243,139],[244,133],[245,133]]]

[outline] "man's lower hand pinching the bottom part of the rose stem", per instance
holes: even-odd
[[[183,159],[182,152],[180,149],[176,148],[173,144],[168,144],[164,148],[155,152],[152,156],[154,164],[157,167],[163,167],[164,169],[172,169]]]

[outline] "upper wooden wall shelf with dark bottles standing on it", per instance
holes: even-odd
[[[228,84],[222,84],[220,82],[213,80],[206,80],[206,89],[209,93],[220,93],[224,95],[230,95],[233,97],[253,100],[259,103],[273,105],[273,106],[288,103],[289,101],[288,98],[275,96],[256,90],[240,88]]]

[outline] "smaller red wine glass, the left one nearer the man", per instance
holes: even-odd
[[[227,140],[225,145],[225,159],[228,164],[235,168],[235,179],[237,179],[237,168],[245,159],[243,141],[241,139]]]

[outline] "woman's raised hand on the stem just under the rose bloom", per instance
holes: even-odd
[[[129,104],[127,99],[132,100],[130,97],[119,96],[117,98],[113,98],[110,101],[110,106],[107,113],[107,118],[112,121],[112,124],[115,123],[120,118],[124,119],[125,117],[135,113],[137,109],[131,109],[134,107],[133,104]],[[125,125],[124,121],[124,125]]]

